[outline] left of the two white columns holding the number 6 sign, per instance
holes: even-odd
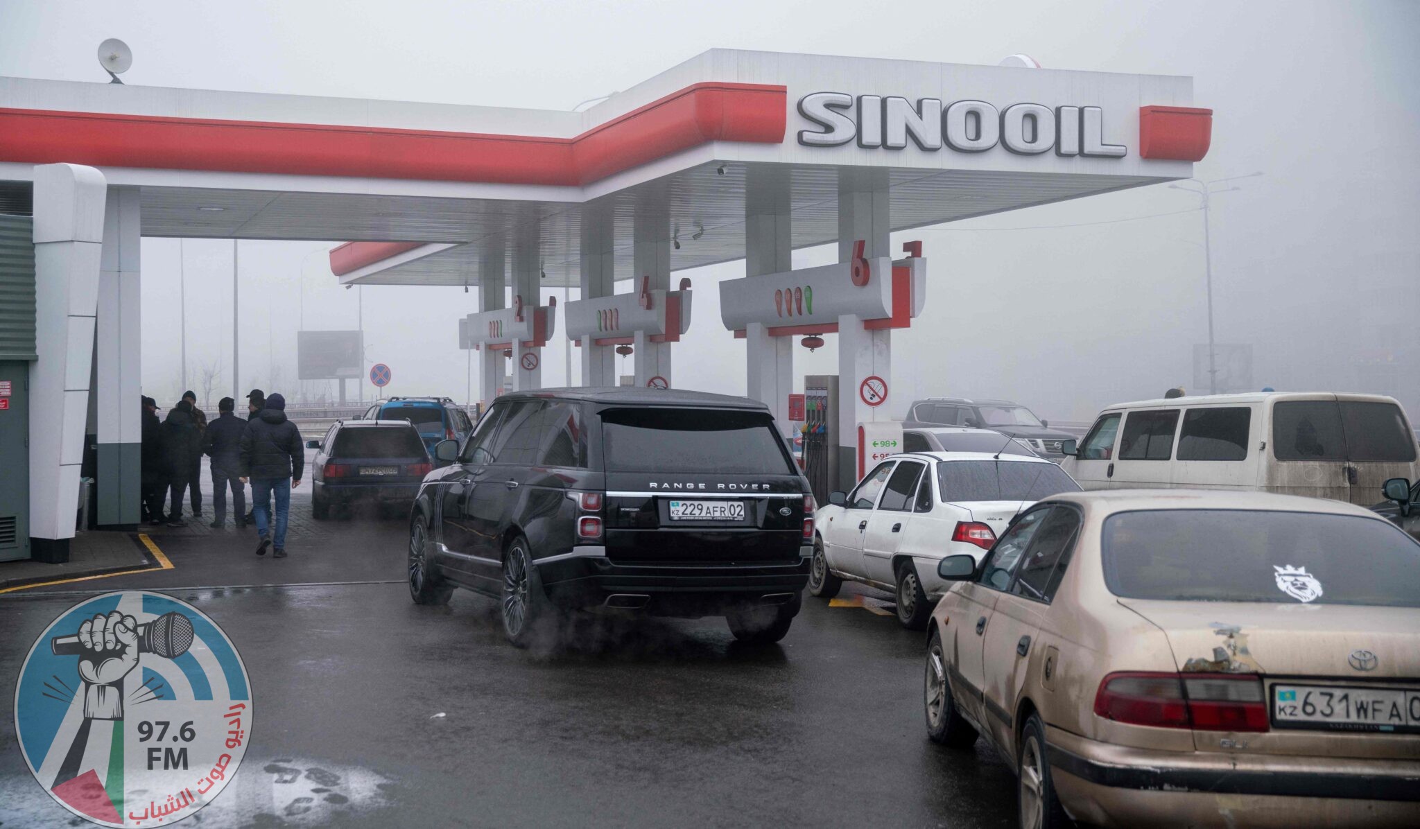
[[[792,213],[788,176],[781,170],[750,170],[744,199],[744,275],[761,277],[794,268]],[[792,433],[790,395],[794,392],[794,338],[770,336],[751,322],[744,329],[746,395],[763,400],[785,437]]]

